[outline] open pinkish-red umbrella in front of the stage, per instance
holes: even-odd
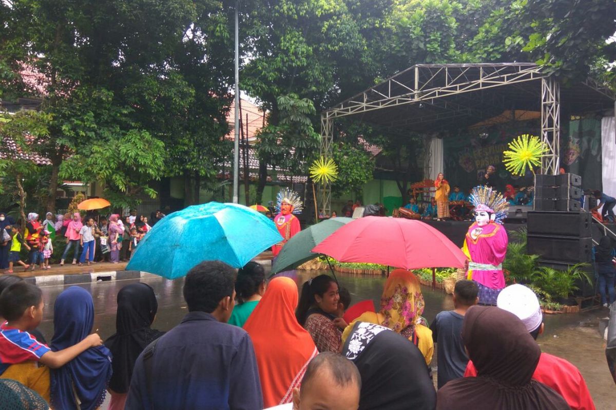
[[[464,267],[458,246],[426,223],[405,218],[355,219],[312,249],[340,262],[368,262],[404,269]]]

